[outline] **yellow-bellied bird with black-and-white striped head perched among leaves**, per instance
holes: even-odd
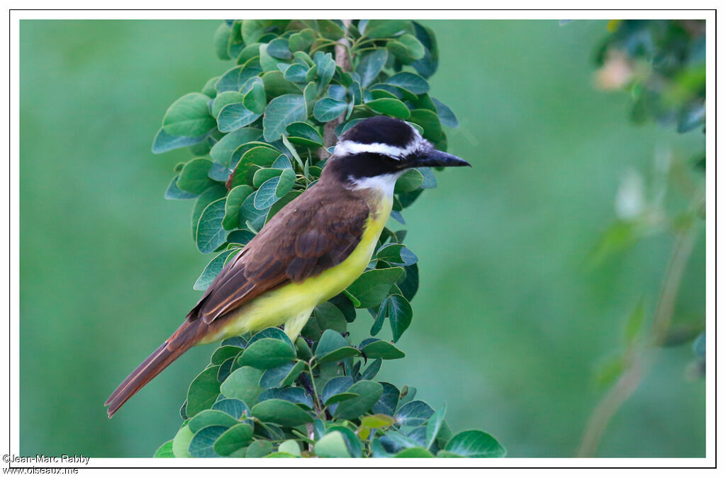
[[[410,168],[470,166],[409,123],[367,118],[338,139],[313,186],[293,199],[224,265],[184,322],[105,402],[108,417],[192,346],[284,326],[294,340],[313,309],[370,263]]]

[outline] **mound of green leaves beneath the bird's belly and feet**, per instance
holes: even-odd
[[[404,357],[395,345],[353,345],[333,329],[311,344],[277,328],[222,342],[189,386],[179,432],[155,457],[505,455],[484,432],[454,435],[445,408],[416,400],[414,387],[375,382],[383,360]]]

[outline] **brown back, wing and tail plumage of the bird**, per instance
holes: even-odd
[[[105,403],[109,418],[179,355],[219,331],[234,310],[346,260],[361,240],[368,215],[362,194],[331,181],[324,170],[314,188],[283,207],[222,268],[184,324],[111,394]]]

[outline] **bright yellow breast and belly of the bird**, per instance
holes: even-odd
[[[343,292],[370,263],[380,233],[391,214],[393,200],[384,194],[372,194],[368,202],[372,213],[367,220],[361,242],[346,260],[317,276],[299,283],[291,282],[242,305],[218,334],[205,337],[200,343],[216,342],[282,324],[286,324],[285,331],[294,340],[312,310]]]

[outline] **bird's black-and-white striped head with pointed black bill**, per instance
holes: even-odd
[[[470,166],[453,154],[441,152],[405,121],[376,116],[343,133],[327,161],[327,175],[353,187],[390,189],[410,168]]]

